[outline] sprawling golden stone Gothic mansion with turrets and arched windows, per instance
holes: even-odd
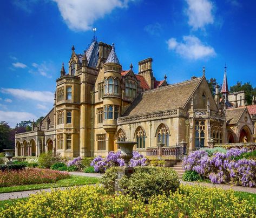
[[[118,52],[117,52],[118,53]],[[214,144],[255,141],[256,105],[229,93],[226,68],[212,96],[205,77],[168,84],[155,79],[152,58],[123,70],[114,44],[92,40],[82,54],[72,47],[67,72],[56,80],[54,107],[31,132],[16,134],[16,156],[52,151],[67,158],[106,156],[117,141],[137,141],[148,156],[175,158]],[[160,149],[160,150],[159,150]],[[160,151],[160,153],[159,153]]]

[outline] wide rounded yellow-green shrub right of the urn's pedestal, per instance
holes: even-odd
[[[130,178],[123,176],[119,180],[124,193],[143,200],[160,193],[168,195],[170,191],[175,192],[179,185],[178,174],[167,167],[137,167]]]

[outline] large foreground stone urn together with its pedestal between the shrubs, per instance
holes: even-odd
[[[118,180],[122,178],[122,176],[126,175],[128,178],[133,174],[134,168],[129,166],[130,159],[133,158],[133,147],[137,144],[136,141],[117,141],[117,145],[119,145],[121,154],[120,157],[124,160],[124,166],[120,167],[117,172],[117,179],[115,181],[115,190],[117,192],[123,193],[123,190],[119,188]]]

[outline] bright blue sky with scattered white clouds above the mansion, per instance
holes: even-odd
[[[256,2],[239,0],[10,0],[0,8],[0,120],[13,127],[53,106],[71,46],[82,53],[97,28],[123,69],[153,58],[157,80],[201,76],[256,86]]]

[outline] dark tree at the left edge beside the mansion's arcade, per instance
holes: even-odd
[[[12,148],[12,142],[10,140],[10,132],[11,128],[8,125],[8,122],[1,121],[0,122],[0,152],[6,148]]]

